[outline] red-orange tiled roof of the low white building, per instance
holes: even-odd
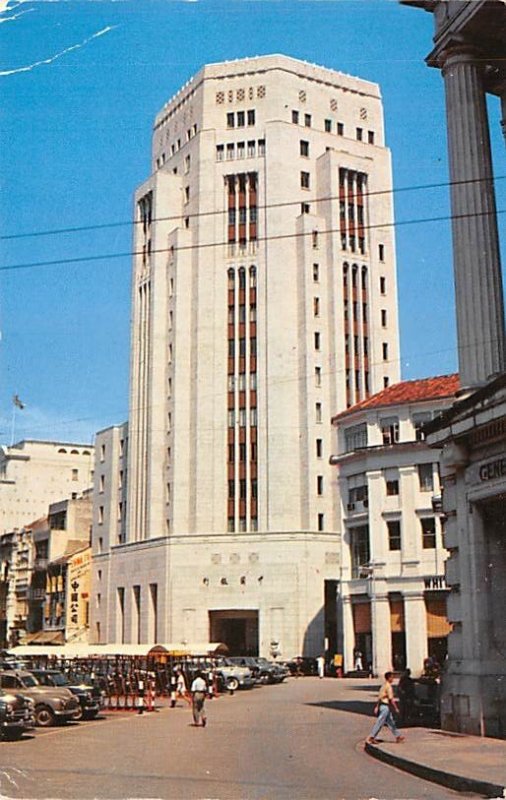
[[[386,389],[382,389],[381,392],[371,395],[366,400],[361,400],[360,403],[355,403],[346,411],[336,414],[335,417],[332,417],[332,422],[354,414],[356,411],[365,411],[370,408],[453,397],[459,388],[460,381],[457,373],[438,375],[435,378],[420,378],[415,381],[400,381],[400,383],[394,383]]]

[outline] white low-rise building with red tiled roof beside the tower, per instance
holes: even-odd
[[[404,381],[333,419],[341,507],[338,587],[344,669],[375,675],[447,653],[438,453],[423,426],[454,400],[456,375]]]

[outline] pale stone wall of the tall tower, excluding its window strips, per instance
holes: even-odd
[[[247,112],[252,110],[255,120],[249,125]],[[292,119],[295,110],[298,123]],[[227,115],[233,113],[237,122],[239,112],[246,115],[244,127],[229,127]],[[311,115],[310,126],[306,114]],[[330,132],[325,130],[327,119]],[[338,124],[344,126],[341,132]],[[357,140],[357,127],[363,129],[362,141]],[[374,143],[368,141],[369,131]],[[308,142],[307,157],[301,156],[301,140]],[[224,148],[222,159],[218,145]],[[227,157],[228,145],[234,146],[233,158]],[[142,587],[151,582],[159,586],[164,609],[159,638],[186,636],[183,620],[195,635],[203,634],[210,609],[224,603],[231,609],[251,608],[243,605],[248,602],[261,611],[262,652],[267,654],[271,618],[282,627],[285,653],[293,655],[303,647],[304,652],[320,652],[325,570],[316,565],[320,557],[325,563],[325,540],[335,548],[340,527],[328,457],[330,416],[347,402],[344,260],[368,271],[367,335],[371,346],[377,336],[382,341],[386,336],[392,357],[373,367],[374,353],[381,349],[374,345],[369,391],[382,388],[385,379],[395,380],[399,370],[395,253],[388,238],[393,210],[383,196],[376,210],[377,196],[369,194],[378,186],[389,192],[392,185],[378,87],[284,56],[208,65],[158,115],[152,156],[153,175],[136,194],[136,219],[144,213],[146,198],[151,216],[146,230],[136,226],[134,248],[138,255],[133,265],[126,542],[111,541],[110,556],[95,551],[102,580],[108,581],[103,590],[107,600],[101,600],[108,603],[108,610],[103,606],[96,621],[109,640],[118,637],[117,590],[123,587],[125,631],[130,635],[132,586],[141,585],[142,609],[148,591]],[[342,250],[340,168],[367,175],[365,223],[381,219],[386,226],[381,265],[370,232],[363,253]],[[257,174],[257,239],[241,250],[227,243],[225,179],[252,172]],[[309,188],[301,186],[302,172],[309,173]],[[248,273],[252,265],[256,268],[258,521],[247,512],[245,530],[238,538],[237,529],[230,530],[229,481],[233,477],[236,486],[241,479],[246,481],[245,507],[253,508],[254,465],[250,441],[244,477],[238,450],[233,475],[227,464],[231,435],[227,273],[233,269],[237,275],[241,267]],[[383,272],[392,304],[387,332],[379,331],[376,308]],[[246,336],[247,359],[250,348]],[[237,353],[235,358],[237,365]],[[248,373],[247,431],[253,408],[250,380]],[[237,402],[237,386],[234,392]],[[236,426],[236,443],[239,434]],[[242,524],[240,507],[236,493],[237,527]],[[257,535],[256,525],[262,537],[263,572],[272,570],[267,600],[253,593],[248,599],[235,583],[223,592],[203,593],[199,588],[196,593],[189,588],[194,570],[207,563],[207,537],[221,537],[222,548],[236,553],[238,564],[246,564],[244,537]],[[185,537],[195,548],[189,562]],[[163,553],[156,565],[148,555],[154,552],[151,547]],[[329,578],[338,578],[336,560],[329,562],[327,572]],[[141,618],[142,614],[141,610]]]

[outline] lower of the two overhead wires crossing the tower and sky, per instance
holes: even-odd
[[[444,222],[448,220],[457,220],[457,219],[468,219],[470,217],[487,217],[487,216],[494,216],[497,214],[504,214],[506,213],[506,209],[499,209],[497,211],[482,211],[479,213],[470,212],[468,214],[449,214],[442,217],[425,217],[423,219],[407,219],[407,220],[400,220],[397,222],[383,222],[378,223],[376,225],[362,225],[363,230],[374,230],[376,228],[398,228],[403,227],[405,225],[424,225],[429,222]],[[304,236],[313,236],[314,233],[318,233],[318,235],[328,235],[333,233],[340,233],[340,228],[327,228],[325,230],[315,229],[314,231],[302,231],[299,233],[283,233],[283,234],[276,234],[274,236],[259,236],[255,239],[255,243],[261,242],[273,242],[273,241],[280,241],[283,239],[297,239]],[[237,242],[202,242],[198,244],[189,244],[189,245],[180,245],[170,246],[170,247],[160,247],[154,250],[151,250],[150,255],[155,255],[157,253],[180,253],[185,250],[204,250],[210,247],[228,247],[231,244],[237,244]],[[35,267],[51,267],[51,266],[59,266],[61,264],[80,264],[92,261],[106,261],[112,258],[129,258],[132,256],[142,256],[143,252],[140,250],[129,250],[124,253],[103,253],[100,255],[94,256],[79,256],[76,258],[59,258],[59,259],[52,259],[50,261],[32,261],[25,264],[7,264],[3,267],[0,267],[0,272],[7,272],[7,271],[14,271],[19,269],[33,269]],[[360,259],[360,253],[350,253],[348,258],[355,258]]]

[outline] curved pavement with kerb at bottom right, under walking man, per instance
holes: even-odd
[[[506,741],[429,728],[406,728],[395,744],[385,729],[369,755],[405,772],[451,789],[486,797],[506,797]]]

